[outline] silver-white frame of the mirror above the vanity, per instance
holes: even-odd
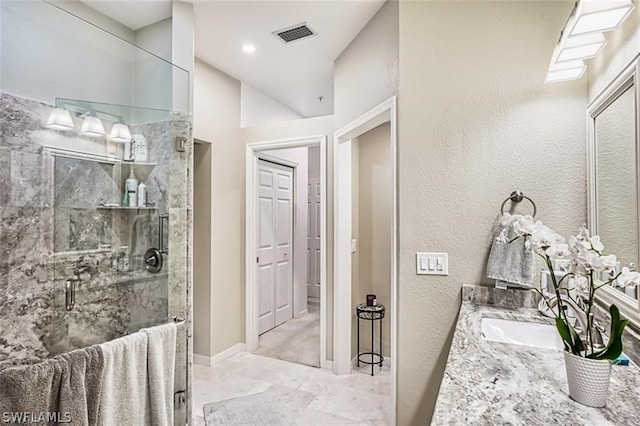
[[[618,76],[587,105],[587,222],[592,234],[599,235],[597,209],[597,140],[596,118],[629,88],[633,87],[635,100],[635,157],[636,192],[640,202],[640,55],[618,74]],[[636,217],[640,225],[640,208]],[[640,226],[639,228],[640,229]],[[637,236],[640,247],[640,232]],[[606,241],[604,241],[606,246]],[[615,253],[614,253],[615,254]],[[618,290],[605,286],[596,296],[605,305],[615,303],[636,329],[640,329],[640,298],[633,300]]]

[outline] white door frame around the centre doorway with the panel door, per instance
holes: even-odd
[[[257,174],[258,160],[268,159],[264,151],[284,148],[320,147],[320,367],[327,368],[327,136],[308,136],[294,139],[280,139],[264,142],[252,142],[246,146],[246,200],[245,200],[245,341],[248,352],[258,348],[258,283],[256,263],[257,253]],[[273,157],[271,157],[273,158]],[[276,162],[286,164],[278,159]],[[294,225],[294,233],[304,232]],[[295,237],[294,237],[295,244]],[[295,267],[295,264],[294,264]],[[306,282],[305,282],[306,285]],[[294,312],[295,290],[294,284]]]

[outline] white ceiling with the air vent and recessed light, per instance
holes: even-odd
[[[84,1],[134,30],[171,15],[171,0]],[[196,56],[305,117],[332,114],[333,61],[384,1],[196,0]],[[285,44],[272,34],[303,22],[317,35]]]

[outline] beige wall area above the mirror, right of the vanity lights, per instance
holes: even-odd
[[[595,99],[640,53],[640,7],[616,31],[604,33],[607,45],[587,63],[589,101]]]

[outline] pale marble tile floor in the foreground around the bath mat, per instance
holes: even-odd
[[[388,366],[356,369],[350,375],[242,352],[213,367],[193,367],[193,412],[203,426],[210,402],[267,391],[272,385],[300,394],[305,406],[293,413],[299,425],[389,425],[391,381]],[[213,426],[213,425],[209,425]],[[239,426],[239,425],[225,425]],[[243,425],[244,426],[244,425]]]

